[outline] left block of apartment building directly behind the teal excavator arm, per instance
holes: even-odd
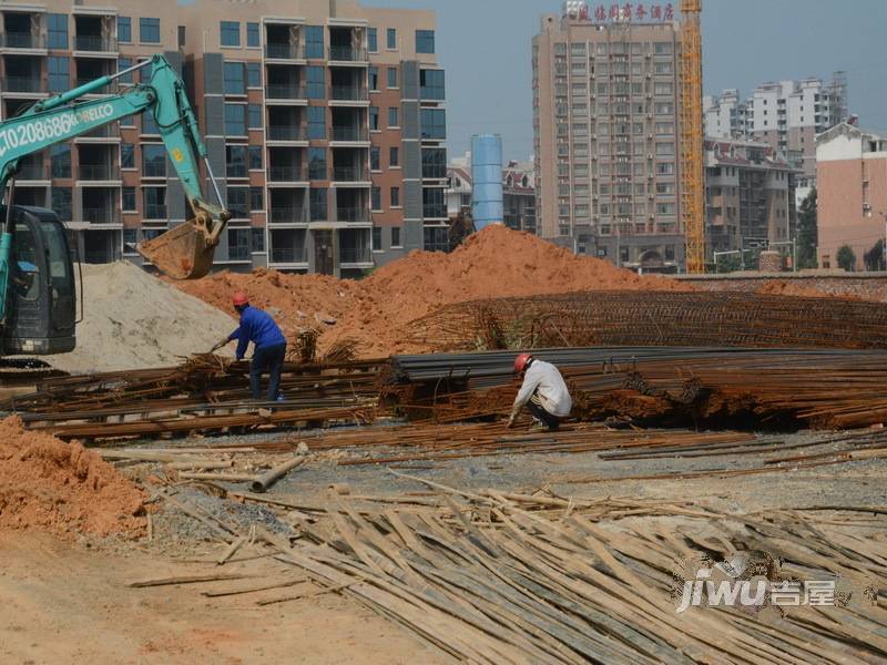
[[[137,0],[114,7],[88,0],[0,4],[0,119],[153,53],[181,63],[176,1],[155,0],[145,9]],[[115,83],[106,92],[119,90]],[[165,154],[151,120],[133,116],[29,157],[16,180],[14,202],[54,209],[84,260],[114,260],[125,242],[136,239],[128,211],[139,211],[133,214],[144,219],[145,237],[185,219],[183,205],[165,204],[184,202],[181,185],[166,182]]]

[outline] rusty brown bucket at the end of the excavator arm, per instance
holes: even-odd
[[[140,243],[135,248],[173,279],[200,279],[213,267],[215,246],[206,225],[191,219],[152,241]]]

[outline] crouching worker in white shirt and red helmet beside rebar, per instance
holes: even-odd
[[[561,372],[550,362],[537,360],[530,354],[521,354],[514,359],[514,374],[523,377],[523,383],[514,398],[508,428],[514,427],[521,409],[527,407],[540,427],[544,426],[549,431],[557,430],[573,408]]]

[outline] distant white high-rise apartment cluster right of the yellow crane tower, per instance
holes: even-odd
[[[704,98],[703,109],[706,136],[763,141],[813,181],[816,134],[848,117],[847,76],[835,72],[830,81],[809,76],[762,83],[747,100],[741,100],[736,90],[725,90]]]

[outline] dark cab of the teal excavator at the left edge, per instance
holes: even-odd
[[[6,218],[0,205],[0,219]],[[74,350],[77,287],[68,236],[50,209],[12,206],[13,253],[10,262],[6,325],[0,356],[51,355]]]

